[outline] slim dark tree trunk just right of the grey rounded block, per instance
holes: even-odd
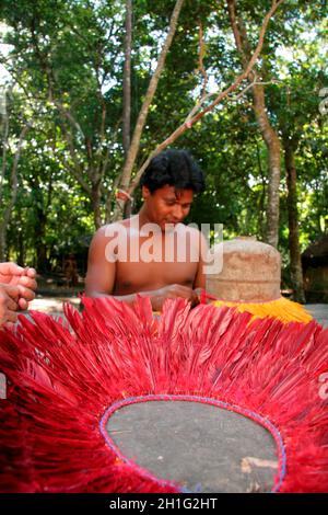
[[[293,299],[297,302],[305,302],[303,288],[303,272],[301,262],[301,250],[298,239],[298,211],[296,192],[296,169],[294,161],[294,149],[292,141],[283,139],[284,163],[288,184],[288,211],[289,211],[289,248],[291,263],[291,283],[293,288]]]

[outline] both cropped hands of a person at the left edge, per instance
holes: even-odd
[[[17,310],[25,310],[35,297],[36,272],[15,263],[0,263],[0,327],[12,325]]]

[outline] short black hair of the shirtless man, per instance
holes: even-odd
[[[155,156],[144,170],[141,186],[151,193],[169,185],[176,190],[204,190],[204,174],[186,150],[168,149]]]

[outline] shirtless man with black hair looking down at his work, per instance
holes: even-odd
[[[92,240],[86,295],[131,304],[139,294],[150,298],[155,311],[166,298],[183,297],[195,305],[196,289],[206,287],[206,243],[198,229],[181,221],[194,194],[204,188],[203,174],[186,151],[166,150],[152,159],[140,184],[143,205],[139,214],[102,227]],[[118,233],[126,237],[126,248]]]

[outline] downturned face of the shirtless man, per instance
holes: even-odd
[[[164,230],[165,224],[176,225],[186,218],[194,199],[194,191],[176,190],[174,186],[166,185],[151,193],[148,187],[143,186],[142,196],[150,220]]]

